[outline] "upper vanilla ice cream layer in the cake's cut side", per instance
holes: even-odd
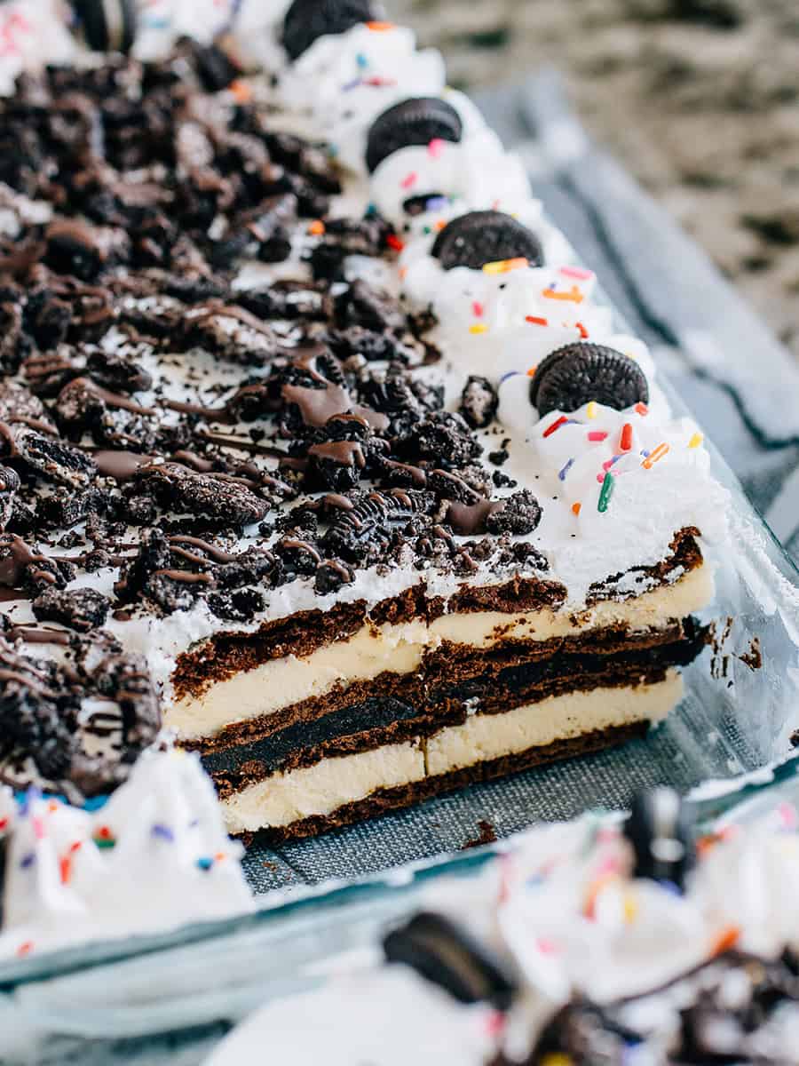
[[[708,567],[700,566],[670,585],[629,600],[604,600],[580,614],[561,610],[445,614],[431,623],[364,626],[346,641],[308,656],[272,659],[254,669],[216,681],[199,695],[185,695],[164,711],[179,739],[214,737],[225,726],[274,714],[301,700],[325,696],[380,674],[410,674],[426,652],[445,642],[486,649],[506,641],[548,641],[624,625],[631,631],[665,628],[671,619],[702,610],[713,599]]]

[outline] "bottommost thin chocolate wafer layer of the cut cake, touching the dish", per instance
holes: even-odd
[[[570,740],[554,741],[541,747],[532,747],[526,752],[506,755],[500,759],[479,762],[461,770],[450,771],[424,780],[390,789],[379,789],[364,800],[343,804],[330,814],[312,814],[288,826],[264,828],[257,835],[250,833],[238,834],[249,844],[258,837],[266,844],[278,844],[287,840],[297,840],[303,837],[317,837],[323,833],[341,829],[371,818],[379,818],[392,810],[410,807],[413,804],[430,800],[433,796],[470,785],[478,785],[508,774],[518,774],[534,766],[542,766],[561,759],[573,759],[582,755],[590,755],[604,748],[624,744],[630,740],[646,737],[649,722],[636,722],[632,725],[617,726],[610,729],[584,733]]]

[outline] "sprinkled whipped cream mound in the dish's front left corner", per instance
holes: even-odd
[[[3,830],[3,825],[5,829]],[[242,846],[196,756],[148,752],[105,803],[0,794],[0,958],[159,933],[250,909]]]

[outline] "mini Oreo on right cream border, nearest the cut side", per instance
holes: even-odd
[[[577,342],[552,352],[536,370],[529,399],[541,418],[597,403],[624,410],[649,403],[649,384],[638,364],[604,344]]]

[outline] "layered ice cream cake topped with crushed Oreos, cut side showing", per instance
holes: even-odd
[[[77,634],[140,656],[243,837],[643,734],[724,536],[646,346],[372,14],[293,4],[268,87],[181,41],[2,104],[6,637],[60,669]],[[74,784],[88,740],[53,766],[26,693],[3,774]]]

